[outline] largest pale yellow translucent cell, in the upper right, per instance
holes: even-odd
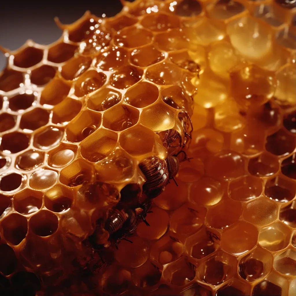
[[[227,25],[232,46],[249,59],[262,59],[271,49],[271,31],[252,17],[232,20]]]

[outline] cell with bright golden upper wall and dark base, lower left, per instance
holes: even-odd
[[[57,185],[45,193],[44,205],[55,213],[65,212],[73,204],[74,196],[71,189]]]

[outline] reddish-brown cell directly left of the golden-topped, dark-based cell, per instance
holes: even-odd
[[[42,206],[42,193],[25,189],[13,197],[13,207],[22,215],[30,215],[40,210]]]

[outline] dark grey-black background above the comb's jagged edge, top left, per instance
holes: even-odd
[[[27,39],[39,44],[50,44],[61,36],[54,17],[69,24],[80,18],[86,10],[97,16],[107,17],[118,13],[122,5],[119,0],[79,1],[32,1],[0,0],[0,45],[15,50]],[[6,64],[0,52],[0,71]]]

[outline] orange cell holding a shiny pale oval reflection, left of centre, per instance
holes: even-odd
[[[77,146],[62,143],[59,147],[48,153],[48,164],[53,168],[62,168],[75,157]]]

